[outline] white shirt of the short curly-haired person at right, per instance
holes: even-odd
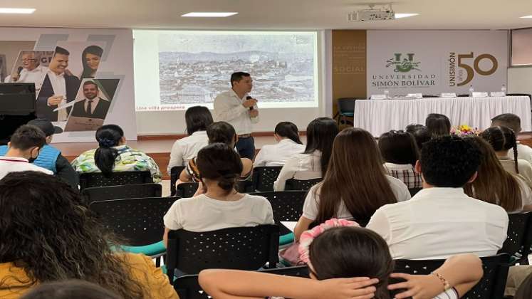
[[[409,201],[381,206],[366,227],[385,239],[394,259],[494,256],[506,241],[508,214],[462,188],[433,187]]]

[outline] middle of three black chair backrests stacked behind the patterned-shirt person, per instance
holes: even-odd
[[[122,186],[89,187],[83,189],[81,194],[87,204],[93,201],[111,199],[138,199],[143,197],[160,197],[162,186],[160,184],[130,184]]]

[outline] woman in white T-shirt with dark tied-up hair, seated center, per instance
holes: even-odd
[[[202,184],[196,196],[179,199],[164,217],[165,243],[169,230],[214,231],[238,226],[273,224],[270,202],[263,196],[240,194],[234,189],[242,162],[234,147],[214,143],[196,158]]]

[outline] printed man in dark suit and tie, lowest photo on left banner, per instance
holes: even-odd
[[[105,119],[111,103],[98,97],[98,93],[98,85],[93,80],[85,81],[83,83],[85,98],[74,104],[71,116]]]

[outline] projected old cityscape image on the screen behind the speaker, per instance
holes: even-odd
[[[259,102],[315,100],[315,33],[182,32],[159,37],[162,105],[212,103],[235,71]]]

